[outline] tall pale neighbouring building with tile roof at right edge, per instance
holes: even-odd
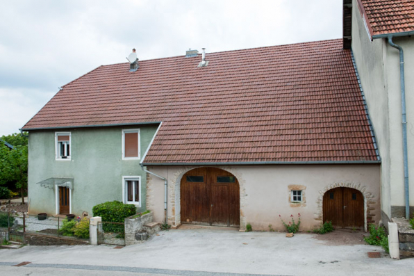
[[[414,211],[414,1],[354,0],[351,10],[351,48],[381,155],[382,221],[387,225],[390,218],[406,217],[407,198],[411,217]],[[406,123],[402,123],[399,49],[388,38],[404,51]],[[409,194],[404,163],[411,173]]]

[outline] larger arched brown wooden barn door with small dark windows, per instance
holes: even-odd
[[[239,226],[239,183],[217,168],[190,170],[181,179],[181,222]]]

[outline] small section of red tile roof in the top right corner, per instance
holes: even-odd
[[[371,36],[414,31],[414,0],[358,1]]]

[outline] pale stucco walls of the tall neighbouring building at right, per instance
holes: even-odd
[[[408,170],[413,172],[414,38],[394,38],[393,41],[404,49]],[[394,208],[405,205],[399,51],[390,47],[384,38],[370,41],[355,0],[352,11],[352,51],[382,159],[381,208],[388,218],[404,216],[404,209]],[[410,205],[414,206],[413,177],[410,179],[409,186]]]

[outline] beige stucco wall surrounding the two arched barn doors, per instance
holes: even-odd
[[[168,179],[168,220],[179,225],[180,181],[188,170],[197,167],[148,167]],[[244,165],[217,166],[231,172],[240,184],[240,229],[250,222],[254,230],[285,230],[279,214],[289,220],[290,214],[301,213],[301,231],[311,230],[322,222],[322,197],[326,190],[347,186],[360,190],[365,198],[368,220],[381,219],[379,202],[379,165]],[[147,208],[154,220],[164,220],[164,181],[148,177]],[[305,203],[290,204],[290,187],[304,186]]]

